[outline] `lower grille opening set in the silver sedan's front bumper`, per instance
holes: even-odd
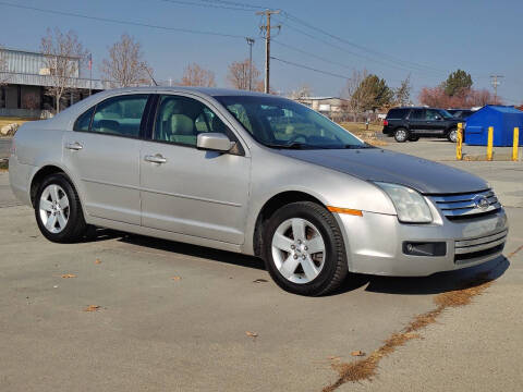
[[[454,262],[469,260],[501,252],[507,241],[508,230],[481,237],[460,240],[454,243]]]

